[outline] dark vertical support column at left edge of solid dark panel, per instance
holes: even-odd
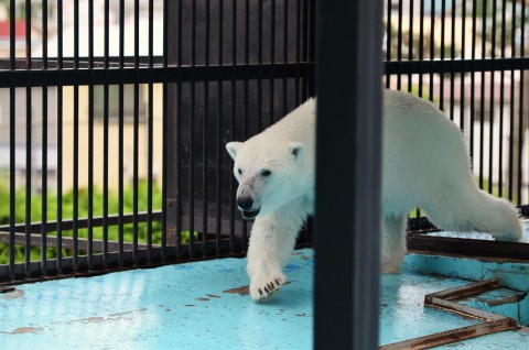
[[[177,56],[177,1],[165,1],[166,9],[166,54],[169,65],[176,64]],[[165,232],[166,232],[166,242],[168,245],[176,245],[176,220],[177,220],[177,182],[176,182],[176,172],[177,172],[177,122],[176,122],[176,84],[168,83],[166,87],[166,124],[164,125],[165,130],[165,160],[163,166],[165,169],[165,186],[166,192],[165,196]]]

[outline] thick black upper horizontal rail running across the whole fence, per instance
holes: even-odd
[[[17,61],[15,69],[8,69],[6,59],[0,61],[0,88],[69,86],[89,84],[147,84],[147,83],[187,83],[208,81],[215,77],[218,80],[269,79],[306,76],[314,69],[314,63],[273,63],[273,64],[237,64],[218,66],[168,66],[155,61],[151,67],[145,57],[134,67],[133,57],[119,66],[118,58],[110,61],[108,68],[105,63],[95,61],[94,68],[88,68],[88,61],[65,63],[64,69],[54,69],[56,63],[48,59],[50,68],[42,69],[42,61],[36,61],[33,69],[25,69],[24,61]],[[527,70],[529,59],[525,57],[477,58],[477,59],[431,59],[431,61],[392,61],[386,62],[385,74],[446,74],[446,73],[481,73],[504,70]]]

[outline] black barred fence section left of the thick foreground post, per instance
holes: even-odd
[[[313,1],[9,4],[0,281],[244,253],[224,145],[313,95]]]

